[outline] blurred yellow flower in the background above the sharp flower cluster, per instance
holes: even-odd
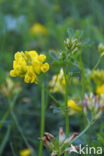
[[[36,23],[30,28],[30,33],[33,35],[46,35],[48,31],[45,26],[40,23]]]

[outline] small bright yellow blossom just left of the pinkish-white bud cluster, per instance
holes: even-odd
[[[67,106],[69,106],[69,114],[82,112],[82,107],[78,106],[74,100],[68,100]]]

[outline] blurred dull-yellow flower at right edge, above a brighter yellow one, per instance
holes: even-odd
[[[92,72],[92,79],[97,86],[104,84],[104,70],[94,70]]]

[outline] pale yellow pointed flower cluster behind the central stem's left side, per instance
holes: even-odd
[[[65,77],[63,69],[60,70],[58,75],[54,75],[52,80],[49,82],[50,92],[56,93],[65,93]]]

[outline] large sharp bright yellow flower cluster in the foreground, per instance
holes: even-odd
[[[37,75],[49,70],[49,64],[44,63],[46,56],[36,51],[17,52],[14,58],[10,76],[22,77],[26,83],[37,81]]]

